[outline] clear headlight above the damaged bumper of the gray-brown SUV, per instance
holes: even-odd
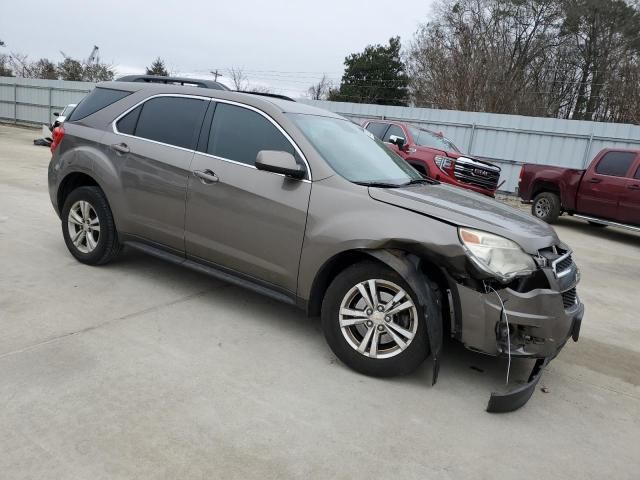
[[[470,228],[459,228],[458,235],[471,260],[502,282],[528,275],[536,269],[531,255],[508,238]]]

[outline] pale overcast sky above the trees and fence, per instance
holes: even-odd
[[[86,58],[93,45],[117,74],[144,73],[162,57],[177,74],[242,67],[254,85],[302,94],[339,79],[344,57],[400,35],[407,43],[432,0],[12,1],[2,7],[2,53],[31,60]],[[37,8],[40,4],[40,8]],[[225,80],[224,77],[222,79]]]

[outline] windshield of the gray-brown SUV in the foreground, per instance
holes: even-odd
[[[289,116],[331,168],[351,182],[402,185],[422,178],[384,143],[348,120]]]

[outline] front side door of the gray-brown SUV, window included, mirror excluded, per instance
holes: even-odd
[[[258,170],[255,159],[279,150],[306,165],[302,153],[268,115],[232,102],[216,102],[202,137],[189,179],[187,255],[294,293],[311,182]]]

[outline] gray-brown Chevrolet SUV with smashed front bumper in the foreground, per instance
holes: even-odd
[[[394,376],[443,339],[535,359],[578,339],[571,250],[544,222],[422,177],[361,127],[274,96],[100,83],[57,127],[49,191],[80,262],[123,245],[320,315],[348,366]]]

